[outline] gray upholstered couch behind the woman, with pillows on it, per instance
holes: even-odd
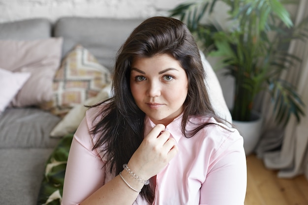
[[[140,22],[67,17],[52,24],[48,19],[30,19],[0,24],[0,40],[62,36],[62,57],[79,43],[112,69],[117,50]],[[36,204],[45,162],[59,142],[49,133],[59,121],[59,117],[33,107],[7,108],[0,115],[1,205]]]

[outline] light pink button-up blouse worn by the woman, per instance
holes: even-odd
[[[89,134],[99,108],[87,111],[78,127],[67,161],[62,205],[77,205],[115,175],[106,170]],[[146,117],[145,135],[155,126]],[[244,205],[246,156],[243,138],[236,129],[209,125],[195,136],[181,132],[182,116],[167,125],[178,154],[156,176],[155,205]],[[214,118],[191,117],[191,123],[216,122]],[[192,128],[188,123],[187,128]],[[221,126],[225,126],[221,124]],[[137,203],[138,202],[138,203]],[[134,205],[148,205],[138,197]]]

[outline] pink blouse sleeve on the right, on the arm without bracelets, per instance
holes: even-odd
[[[219,154],[208,173],[201,187],[200,205],[244,205],[246,185],[246,155],[243,138],[239,135]]]

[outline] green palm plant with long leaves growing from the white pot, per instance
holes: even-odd
[[[229,9],[229,26],[224,29],[217,21],[205,21],[218,1]],[[300,60],[287,48],[291,40],[307,37],[308,21],[294,26],[282,0],[194,0],[179,4],[170,16],[179,17],[205,54],[218,57],[225,74],[234,78],[233,120],[251,120],[256,95],[268,91],[278,124],[285,125],[291,115],[300,121],[304,104],[280,76]]]

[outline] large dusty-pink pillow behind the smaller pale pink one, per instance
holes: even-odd
[[[62,38],[0,40],[0,54],[1,68],[31,73],[12,100],[12,106],[38,105],[52,99],[53,78],[61,62]]]

